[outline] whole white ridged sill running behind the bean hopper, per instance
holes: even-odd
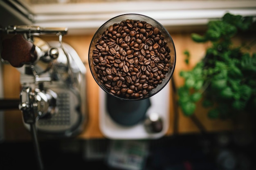
[[[21,1],[21,0],[20,0]],[[154,18],[164,26],[206,25],[225,13],[256,16],[255,0],[153,0],[95,2],[78,4],[26,5],[33,22],[42,27],[67,27],[69,34],[92,34],[109,19],[139,13]]]

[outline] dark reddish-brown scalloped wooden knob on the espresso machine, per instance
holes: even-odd
[[[3,40],[2,59],[8,61],[13,67],[33,64],[37,59],[36,46],[25,40],[23,35],[14,35],[10,39]]]

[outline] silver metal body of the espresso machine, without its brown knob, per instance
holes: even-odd
[[[62,42],[66,28],[9,26],[8,34],[23,34],[35,45],[38,58],[17,67],[20,72],[20,110],[34,113],[38,135],[72,137],[87,121],[86,68],[76,51]],[[36,35],[55,34],[59,41],[45,42]],[[23,116],[25,127],[29,123]]]

